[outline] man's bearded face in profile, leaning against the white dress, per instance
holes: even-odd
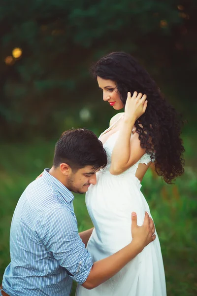
[[[86,193],[91,184],[97,184],[96,173],[98,171],[99,169],[95,170],[91,165],[78,169],[68,177],[66,187],[76,193]]]

